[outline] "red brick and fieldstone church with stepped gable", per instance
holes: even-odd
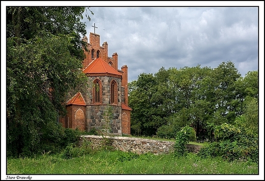
[[[82,39],[88,43],[89,49],[85,51],[83,72],[92,85],[87,88],[87,92],[76,92],[67,100],[67,115],[59,121],[64,127],[87,132],[92,129],[102,131],[108,123],[109,133],[130,135],[128,67],[123,65],[118,69],[118,54],[108,57],[108,43],[104,42],[100,46],[98,34],[90,33],[89,38],[89,42],[86,36]]]

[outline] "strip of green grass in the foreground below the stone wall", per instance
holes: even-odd
[[[64,160],[61,154],[7,160],[7,174],[258,174],[258,164],[201,159],[195,153],[137,155],[122,151],[98,151]]]

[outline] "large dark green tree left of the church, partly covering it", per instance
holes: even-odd
[[[65,113],[65,94],[86,81],[85,9],[7,7],[8,156],[36,152],[45,127]]]

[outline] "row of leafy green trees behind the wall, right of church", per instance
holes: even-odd
[[[257,75],[251,71],[241,77],[231,61],[217,68],[162,67],[154,75],[142,73],[129,83],[131,133],[175,138],[189,125],[197,141],[213,140],[215,126],[234,124],[241,115],[248,129],[257,130]]]

